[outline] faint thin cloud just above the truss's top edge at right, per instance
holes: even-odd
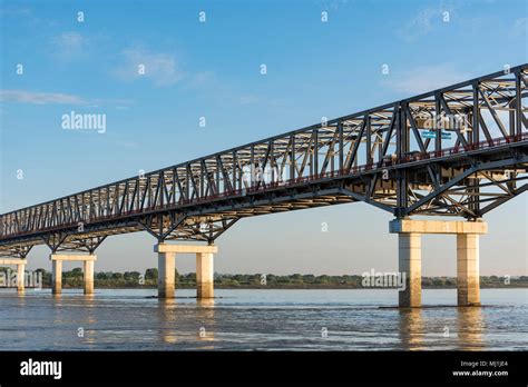
[[[468,73],[457,70],[451,63],[419,66],[385,77],[388,79],[382,81],[382,86],[407,95],[428,92],[469,78]]]

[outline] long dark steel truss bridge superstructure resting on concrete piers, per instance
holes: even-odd
[[[475,220],[528,187],[527,87],[522,64],[3,214],[0,256],[144,230],[213,244],[245,217],[355,201]]]

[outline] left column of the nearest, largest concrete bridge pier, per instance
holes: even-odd
[[[405,276],[405,288],[398,292],[401,308],[420,307],[422,304],[422,247],[421,236],[404,232],[398,237],[398,266],[401,276]]]

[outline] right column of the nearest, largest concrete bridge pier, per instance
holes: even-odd
[[[457,300],[458,306],[480,305],[479,236],[457,235]]]

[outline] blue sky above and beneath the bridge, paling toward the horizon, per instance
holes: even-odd
[[[2,0],[0,211],[527,62],[527,14],[521,0]],[[63,130],[71,110],[105,113],[106,131]],[[527,216],[526,195],[489,215],[482,274],[526,274]],[[366,205],[244,219],[217,241],[216,269],[393,270],[389,220]],[[426,241],[423,274],[454,275],[454,241]],[[153,267],[154,242],[110,238],[97,269]]]

